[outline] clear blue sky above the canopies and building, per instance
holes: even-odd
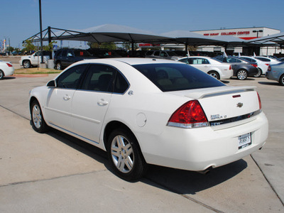
[[[41,0],[43,30],[117,24],[153,33],[268,27],[284,32],[284,0]],[[1,1],[0,40],[40,32],[39,0]],[[67,45],[67,41],[64,42]]]

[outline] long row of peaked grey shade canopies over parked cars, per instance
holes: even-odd
[[[155,34],[129,26],[105,24],[81,30],[64,30],[48,27],[43,31],[43,40],[82,40],[94,43],[126,42],[126,43],[157,43],[157,44],[184,44],[184,45],[219,45],[219,46],[246,46],[260,45],[231,35],[219,35],[214,38],[192,33],[190,31],[170,31]],[[283,42],[283,33],[278,37],[271,35],[271,41]],[[40,41],[40,33],[31,36],[28,40]],[[268,37],[268,36],[267,36]],[[264,38],[264,37],[263,37]],[[263,39],[261,38],[261,39]],[[258,40],[256,40],[258,42]],[[267,41],[266,41],[267,42]]]

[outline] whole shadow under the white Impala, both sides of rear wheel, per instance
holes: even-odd
[[[99,163],[104,164],[107,170],[115,175],[114,170],[109,163],[107,153],[102,151],[102,149],[56,129],[49,131],[48,135],[65,143],[67,146],[88,155]],[[165,168],[158,165],[148,165],[148,173],[146,173],[144,178],[133,182],[141,181],[170,192],[194,195],[196,192],[207,190],[210,187],[214,187],[215,185],[219,185],[220,183],[233,178],[241,173],[246,167],[247,163],[245,160],[237,160],[234,163],[214,168],[207,174],[202,174],[187,170]]]

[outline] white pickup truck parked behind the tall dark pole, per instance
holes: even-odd
[[[45,64],[48,64],[49,58],[50,57],[48,51],[43,51],[43,62],[45,62]],[[33,53],[33,55],[22,56],[21,60],[19,61],[19,64],[24,68],[31,68],[38,66],[40,62],[41,62],[41,55],[40,51],[38,51]]]

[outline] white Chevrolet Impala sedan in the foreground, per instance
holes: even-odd
[[[102,148],[125,180],[141,178],[148,164],[216,168],[268,137],[255,87],[229,87],[172,60],[76,62],[32,89],[29,107],[35,131],[52,127]]]

